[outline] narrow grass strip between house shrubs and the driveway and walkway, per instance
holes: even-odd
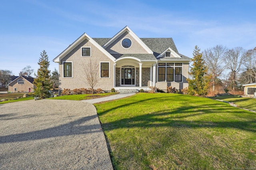
[[[49,98],[54,100],[87,100],[92,98],[101,98],[106,97],[110,95],[117,94],[116,92],[111,93],[100,93],[100,94],[94,94],[93,97],[91,94],[77,94],[77,95],[66,95],[66,96],[58,96],[56,98]]]

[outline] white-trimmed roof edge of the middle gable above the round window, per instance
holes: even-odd
[[[128,32],[149,54],[153,54],[153,51],[128,27],[124,27],[119,31],[114,37],[112,37],[108,42],[106,42],[102,47],[106,49],[110,44],[112,44],[118,37],[123,33]]]

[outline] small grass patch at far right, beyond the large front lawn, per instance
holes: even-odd
[[[220,99],[227,102],[232,102],[244,109],[250,109],[256,111],[256,99],[255,98],[240,98],[236,95],[227,95],[227,96],[219,96],[213,97],[214,99]]]

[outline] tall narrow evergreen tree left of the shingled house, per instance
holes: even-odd
[[[40,53],[41,57],[39,58],[38,65],[40,66],[37,70],[37,77],[34,79],[34,85],[36,86],[35,95],[39,99],[44,99],[50,97],[50,70],[48,67],[50,62],[48,61],[48,55],[46,51]]]

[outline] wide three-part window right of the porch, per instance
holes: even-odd
[[[158,63],[158,82],[182,82],[182,63]]]

